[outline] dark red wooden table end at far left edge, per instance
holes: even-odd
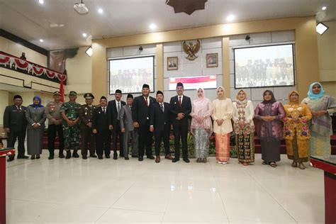
[[[6,155],[15,155],[14,148],[0,150],[0,223],[6,223]]]

